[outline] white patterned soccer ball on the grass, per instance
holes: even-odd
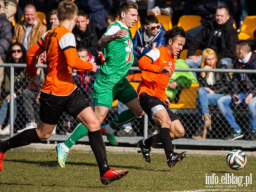
[[[247,162],[245,153],[240,149],[234,149],[227,154],[227,165],[234,170],[242,169]]]

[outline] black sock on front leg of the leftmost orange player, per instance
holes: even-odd
[[[103,142],[101,131],[88,132],[89,143],[99,166],[99,173],[102,177],[110,168],[107,165],[107,153]]]

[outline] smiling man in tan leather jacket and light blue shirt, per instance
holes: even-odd
[[[47,31],[47,27],[37,17],[37,10],[34,5],[28,4],[24,8],[25,20],[16,23],[12,43],[21,43],[26,50],[29,50]]]

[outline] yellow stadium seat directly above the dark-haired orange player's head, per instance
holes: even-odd
[[[199,15],[182,15],[179,18],[178,26],[182,27],[185,31],[201,25],[201,16]]]

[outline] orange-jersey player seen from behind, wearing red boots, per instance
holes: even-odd
[[[6,151],[48,139],[63,111],[66,111],[88,128],[89,142],[98,163],[101,182],[106,185],[128,174],[127,169],[108,167],[99,120],[72,78],[72,68],[92,72],[97,69],[96,63],[78,57],[75,37],[71,32],[77,21],[77,13],[78,9],[72,1],[62,1],[58,6],[60,25],[47,31],[27,52],[27,71],[30,77],[28,88],[31,92],[40,91],[36,57],[44,51],[47,54],[47,76],[41,86],[39,99],[40,121],[37,128],[25,130],[0,142],[0,171],[3,169]]]

